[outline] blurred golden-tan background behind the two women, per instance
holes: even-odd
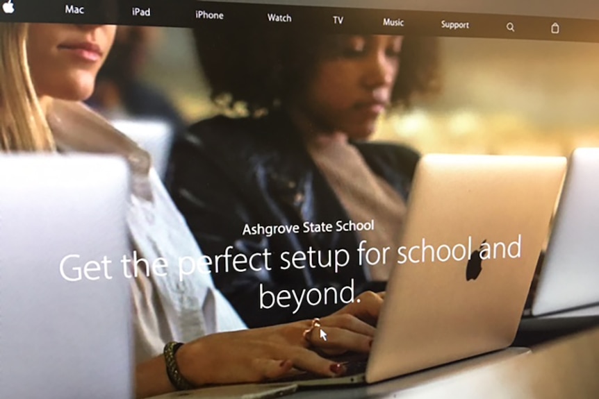
[[[172,121],[179,130],[218,113],[191,32],[143,29],[120,28],[119,35],[134,43],[120,51],[129,52],[129,73],[142,88],[138,101],[153,99],[144,112],[179,118]],[[599,44],[443,38],[441,51],[441,94],[387,115],[375,139],[422,153],[568,155],[578,146],[599,146]],[[101,84],[94,101],[109,117],[139,114]]]

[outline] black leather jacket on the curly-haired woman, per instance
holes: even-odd
[[[355,144],[372,171],[407,198],[418,154],[394,144]],[[311,306],[286,300],[289,307],[260,309],[261,290],[295,290],[312,287],[345,287],[354,279],[354,294],[367,289],[382,290],[384,284],[366,281],[358,266],[357,232],[243,235],[246,225],[299,225],[349,221],[325,177],[315,166],[302,139],[289,121],[274,115],[263,119],[215,117],[195,124],[190,133],[174,144],[167,185],[179,210],[205,255],[226,252],[252,255],[268,249],[272,270],[215,273],[215,285],[222,291],[251,328],[300,319],[326,316],[344,304],[333,297]],[[352,256],[348,266],[281,270],[281,253],[289,251],[334,251],[345,248]],[[327,253],[328,254],[328,253]],[[231,257],[230,259],[233,259]],[[288,258],[290,256],[287,256]],[[254,268],[263,257],[254,258]],[[224,262],[220,260],[221,264]],[[315,262],[316,263],[316,262]],[[262,264],[260,264],[262,266]],[[322,290],[321,290],[322,292]],[[329,291],[330,293],[330,291]],[[316,294],[313,295],[315,302]],[[347,298],[345,298],[347,300]],[[270,305],[272,298],[265,298]]]

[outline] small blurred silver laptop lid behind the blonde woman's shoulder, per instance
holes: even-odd
[[[150,154],[156,173],[163,179],[174,138],[172,126],[159,119],[115,119],[110,124]]]

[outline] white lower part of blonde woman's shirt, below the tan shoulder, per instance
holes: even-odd
[[[132,279],[138,362],[162,353],[168,341],[187,342],[214,332],[245,328],[214,287],[208,266],[199,262],[202,252],[154,169],[147,179],[152,200],[133,190],[127,215],[129,230],[134,248],[140,252],[138,258],[151,263],[162,257],[170,267],[161,269],[166,276],[150,273],[147,278],[141,265],[138,278]],[[196,263],[196,271],[183,278],[179,277],[181,257]]]

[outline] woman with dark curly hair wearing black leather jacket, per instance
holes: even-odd
[[[436,89],[436,40],[238,32],[195,39],[213,101],[245,116],[192,126],[169,177],[207,255],[272,254],[213,264],[215,284],[251,327],[334,311],[347,287],[383,290],[395,258],[357,248],[397,247],[419,155],[367,139],[385,110]]]

